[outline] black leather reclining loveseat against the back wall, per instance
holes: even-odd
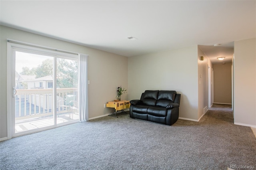
[[[176,91],[146,90],[140,100],[130,101],[130,117],[173,125],[179,118],[180,96]]]

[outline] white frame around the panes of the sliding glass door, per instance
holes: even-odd
[[[22,132],[18,132],[15,133],[15,109],[14,109],[14,105],[15,105],[15,98],[13,97],[13,89],[12,87],[15,87],[15,53],[16,51],[22,51],[22,52],[27,52],[27,53],[35,53],[35,54],[39,54],[39,55],[46,55],[47,56],[52,56],[54,57],[54,63],[55,63],[55,69],[53,71],[53,76],[54,79],[56,79],[56,56],[62,56],[62,57],[68,57],[68,58],[74,58],[74,59],[78,59],[78,54],[77,53],[72,53],[72,52],[68,52],[68,51],[57,51],[55,49],[50,49],[47,47],[40,47],[37,45],[31,45],[31,44],[26,44],[26,43],[22,43],[22,42],[17,42],[17,43],[12,43],[12,40],[10,40],[11,42],[7,42],[7,139],[10,139],[12,137],[16,137],[16,136],[22,136],[24,134],[31,134],[34,132],[40,132],[43,130],[48,130],[51,128],[55,128],[55,127],[60,127],[60,126],[64,126],[64,125],[68,125],[71,123],[75,123],[77,121],[69,121],[66,123],[62,123],[62,124],[57,124],[56,123],[56,99],[54,99],[54,106],[53,106],[53,115],[54,115],[54,125],[48,126],[48,127],[42,127],[42,128],[36,128],[36,129],[32,129],[29,131],[22,131]],[[16,42],[16,41],[13,41]],[[24,45],[23,45],[24,44]],[[55,51],[54,51],[55,50]],[[54,81],[53,81],[54,82]],[[55,83],[53,83],[53,95],[56,96],[56,81]]]

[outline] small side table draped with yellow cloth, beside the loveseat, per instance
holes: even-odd
[[[126,113],[123,109],[130,108],[130,101],[122,100],[122,101],[109,101],[106,103],[106,107],[114,108],[114,112],[111,113],[109,116],[116,117],[117,111],[121,111],[122,113]]]

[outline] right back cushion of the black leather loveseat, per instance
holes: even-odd
[[[156,106],[166,107],[170,103],[173,103],[175,99],[176,91],[160,90],[156,101]]]

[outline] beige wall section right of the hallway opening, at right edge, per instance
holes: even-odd
[[[234,42],[234,123],[256,127],[256,38]]]

